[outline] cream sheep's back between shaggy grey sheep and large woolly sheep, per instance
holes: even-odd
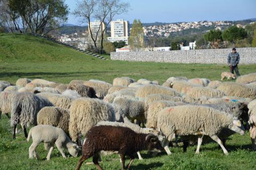
[[[54,93],[38,93],[38,96],[42,96],[49,100],[53,106],[59,107],[62,109],[69,109],[71,102],[76,99],[74,97],[70,97],[63,94],[54,94]]]

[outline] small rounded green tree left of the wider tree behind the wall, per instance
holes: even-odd
[[[222,41],[221,31],[217,30],[210,30],[208,33],[204,34],[204,39],[207,42],[210,42],[212,47],[219,48],[219,42]]]

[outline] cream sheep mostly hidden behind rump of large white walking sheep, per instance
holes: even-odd
[[[159,112],[167,107],[177,106],[177,104],[173,101],[154,101],[149,103],[148,111],[147,111],[147,124],[146,127],[148,128],[157,128],[157,117]]]

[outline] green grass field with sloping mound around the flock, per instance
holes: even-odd
[[[0,34],[0,80],[12,83],[21,77],[43,78],[59,83],[69,83],[73,79],[101,79],[112,83],[115,77],[128,76],[158,80],[162,84],[171,76],[219,80],[223,71],[228,71],[226,65],[101,60],[42,38]],[[239,71],[242,75],[255,72],[256,64],[240,65]],[[28,159],[31,141],[27,142],[21,127],[18,128],[17,139],[12,140],[9,119],[2,115],[0,169],[75,169],[79,158],[63,159],[55,148],[51,160],[47,161],[47,151],[43,149],[43,144],[37,148],[39,160]],[[190,146],[187,153],[182,153],[182,147],[170,148],[173,152],[171,156],[163,152],[151,157],[144,151],[142,157],[145,159],[136,159],[132,169],[256,169],[256,152],[250,150],[249,133],[245,136],[231,136],[227,145],[229,156],[223,154],[217,143],[202,145],[199,155],[195,155],[196,146]],[[118,155],[102,157],[101,166],[104,169],[121,169]],[[83,164],[82,169],[96,168],[94,165]]]

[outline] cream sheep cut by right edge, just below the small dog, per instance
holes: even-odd
[[[224,92],[228,96],[256,99],[256,89],[243,84],[225,82],[222,83],[217,89]]]

